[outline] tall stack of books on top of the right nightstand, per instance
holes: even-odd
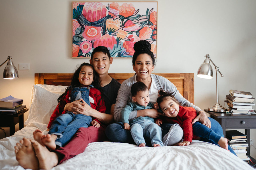
[[[228,104],[229,111],[233,114],[251,114],[254,113],[252,106],[254,99],[250,92],[229,90],[225,102]]]

